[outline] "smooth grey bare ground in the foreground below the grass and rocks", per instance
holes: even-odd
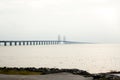
[[[83,77],[71,73],[55,73],[46,75],[2,75],[0,80],[93,80],[92,77]]]

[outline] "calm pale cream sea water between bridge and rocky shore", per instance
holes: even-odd
[[[0,66],[120,70],[120,44],[0,46]]]

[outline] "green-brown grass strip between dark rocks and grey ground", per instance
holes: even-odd
[[[41,75],[40,72],[33,72],[27,70],[0,70],[0,74],[8,74],[8,75]]]

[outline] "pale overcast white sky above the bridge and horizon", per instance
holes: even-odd
[[[120,43],[120,0],[0,0],[0,40]]]

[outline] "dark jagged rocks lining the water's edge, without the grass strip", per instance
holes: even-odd
[[[27,68],[11,68],[11,67],[0,67],[0,74],[4,74],[2,72],[6,72],[9,70],[15,71],[29,71],[29,72],[37,72],[41,75],[48,75],[48,74],[57,74],[57,73],[71,73],[74,75],[80,75],[84,77],[92,77],[92,80],[120,80],[120,76],[115,74],[120,74],[120,72],[108,72],[108,73],[98,73],[98,74],[91,74],[84,70],[79,69],[58,69],[58,68],[34,68],[34,67],[27,67]]]

